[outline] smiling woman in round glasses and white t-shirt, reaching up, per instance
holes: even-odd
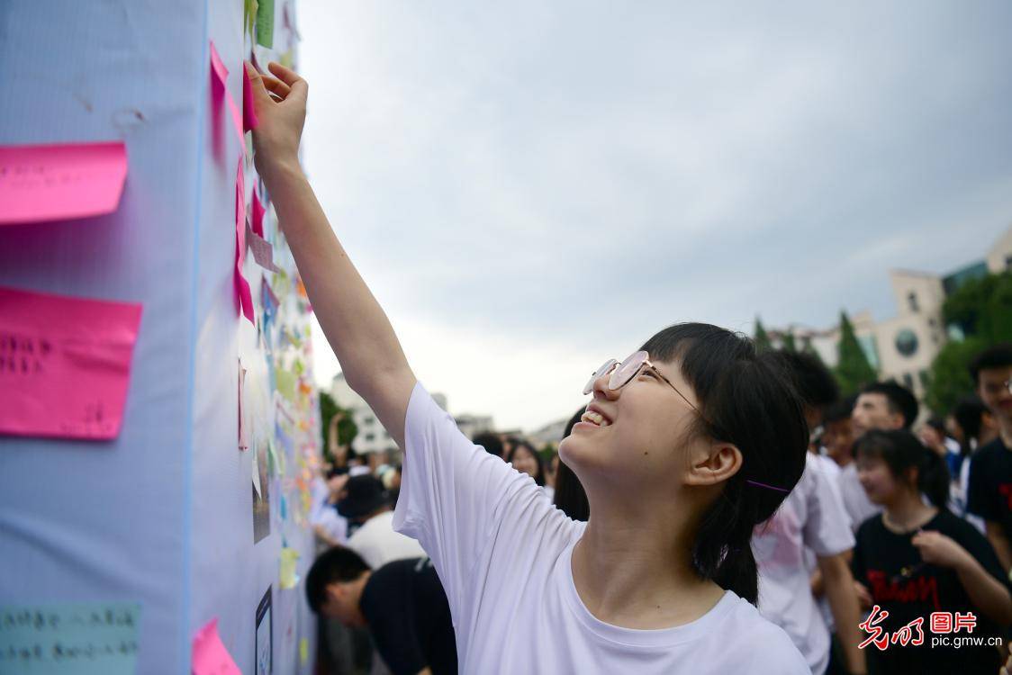
[[[274,77],[247,64],[254,161],[348,385],[404,450],[394,524],[432,559],[460,672],[811,672],[755,607],[752,529],[797,483],[809,442],[779,359],[706,324],[608,359],[559,447],[591,514],[570,519],[416,379],[300,167],[308,85],[269,68]],[[552,374],[515,376],[534,389]]]

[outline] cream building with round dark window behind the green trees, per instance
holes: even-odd
[[[882,379],[896,379],[924,397],[931,362],[949,338],[943,325],[942,304],[966,281],[1012,268],[1012,227],[1005,231],[988,250],[983,260],[955,269],[948,274],[894,269],[890,283],[897,314],[875,322],[867,311],[850,317],[854,333],[871,365]],[[828,365],[836,365],[840,328],[826,330],[790,326],[768,331],[773,342],[782,341],[786,333],[794,336],[798,348],[811,344]],[[961,337],[961,336],[955,336]]]

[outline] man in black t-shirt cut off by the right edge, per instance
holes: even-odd
[[[981,352],[969,366],[977,394],[998,422],[999,434],[969,462],[966,510],[984,518],[988,540],[1006,574],[1012,573],[1012,344]]]

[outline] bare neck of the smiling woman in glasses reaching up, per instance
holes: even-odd
[[[597,503],[591,512],[572,572],[580,599],[600,620],[671,627],[699,618],[724,596],[692,567],[687,523],[673,513],[609,513]]]

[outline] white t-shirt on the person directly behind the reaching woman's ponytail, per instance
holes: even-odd
[[[837,492],[806,453],[802,480],[773,517],[756,526],[752,551],[759,566],[759,611],[783,628],[813,673],[829,664],[829,627],[812,595],[805,550],[835,556],[854,547],[847,512]]]

